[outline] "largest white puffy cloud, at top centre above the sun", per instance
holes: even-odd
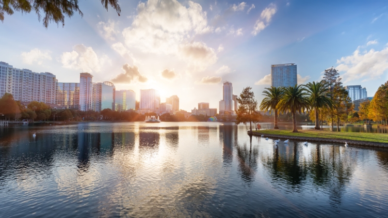
[[[189,7],[177,0],[148,0],[137,6],[138,15],[131,27],[124,29],[125,44],[144,52],[177,54],[190,35],[211,32],[206,12],[200,4],[189,1]]]

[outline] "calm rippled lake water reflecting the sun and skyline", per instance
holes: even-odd
[[[274,146],[246,130],[1,127],[0,217],[387,217],[387,150]]]

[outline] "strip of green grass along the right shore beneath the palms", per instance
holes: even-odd
[[[329,132],[323,130],[298,130],[292,132],[292,129],[264,129],[253,131],[254,136],[264,135],[271,138],[295,138],[296,140],[310,141],[330,141],[332,142],[359,142],[356,144],[364,144],[377,147],[388,147],[388,135],[381,133],[363,133],[363,132]],[[365,143],[371,142],[371,143]],[[373,145],[373,143],[375,143]],[[349,143],[351,144],[351,143]]]

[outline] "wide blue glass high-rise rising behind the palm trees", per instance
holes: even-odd
[[[296,64],[275,64],[271,65],[271,85],[273,87],[289,87],[298,83]]]

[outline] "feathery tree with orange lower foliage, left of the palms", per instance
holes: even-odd
[[[249,122],[249,134],[252,135],[252,122],[259,122],[261,114],[256,111],[258,102],[255,100],[255,94],[251,92],[251,87],[242,90],[240,97],[237,97],[239,109],[237,109],[236,124],[246,124]]]

